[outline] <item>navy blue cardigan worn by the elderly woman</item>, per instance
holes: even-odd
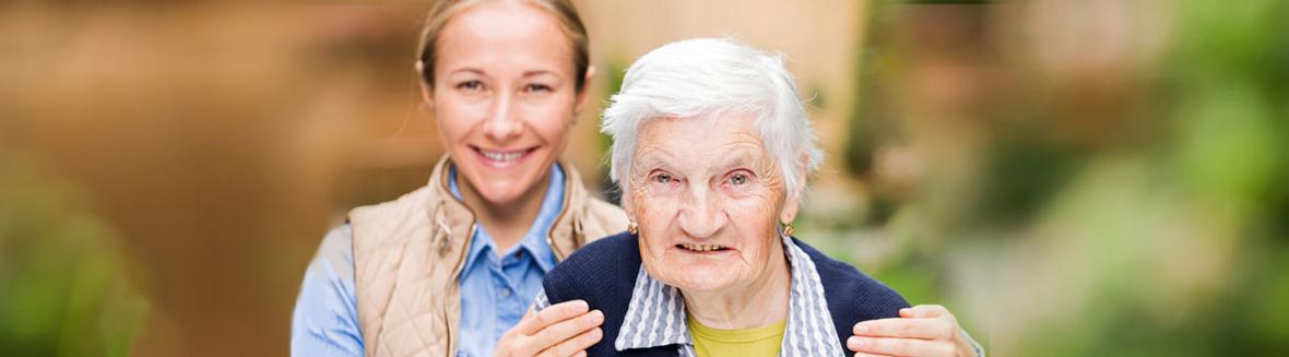
[[[856,322],[898,317],[900,309],[909,307],[898,293],[855,267],[833,260],[797,238],[793,242],[815,260],[842,351],[848,351],[846,339],[852,335],[851,327]],[[588,356],[677,356],[675,345],[624,352],[614,349],[639,268],[638,240],[623,232],[579,249],[547,273],[543,287],[550,304],[583,299],[592,309],[605,313],[605,325],[601,326],[605,335],[586,349]]]

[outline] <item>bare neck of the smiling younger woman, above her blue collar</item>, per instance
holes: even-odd
[[[543,175],[540,180],[528,187],[522,195],[504,202],[492,202],[483,198],[478,193],[478,189],[469,180],[460,179],[460,175],[458,175],[456,184],[461,188],[461,198],[465,201],[465,205],[474,211],[480,226],[487,229],[500,255],[519,244],[523,240],[523,235],[528,233],[528,229],[532,228],[532,222],[538,219],[538,214],[541,211],[541,201],[547,196],[547,186],[550,186],[550,174],[548,171],[548,174]]]

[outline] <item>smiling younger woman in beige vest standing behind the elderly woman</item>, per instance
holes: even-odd
[[[594,77],[586,41],[567,0],[431,10],[416,68],[447,155],[424,187],[322,240],[293,354],[574,356],[599,342],[585,302],[526,314],[545,272],[628,224],[558,160]]]

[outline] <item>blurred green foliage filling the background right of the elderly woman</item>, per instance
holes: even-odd
[[[919,151],[968,152],[968,165],[922,157],[928,168],[909,183],[915,193],[877,189],[862,202],[893,210],[848,228],[896,242],[897,253],[875,269],[879,278],[913,303],[987,316],[964,323],[999,354],[1289,349],[1289,1],[1154,1],[1163,12],[1125,12],[1128,26],[1096,28],[1161,19],[1158,54],[1088,68],[1026,48],[1058,43],[1045,36],[1060,24],[1032,9],[1060,1],[920,3],[874,1],[866,14],[844,168],[880,186],[880,147],[924,144],[916,138],[940,130],[935,125],[956,125],[907,124],[924,113],[907,104],[923,101],[915,85],[926,81],[919,71],[929,71],[918,57],[950,53],[937,68],[986,68],[986,77],[1005,76],[991,81],[1004,88],[978,88],[984,110],[946,110],[968,117],[974,126],[963,135],[981,140]],[[1080,3],[1087,13],[1061,18],[1112,22],[1090,14],[1123,10],[1116,5]],[[936,26],[927,18],[980,22],[985,35],[967,46],[987,64],[955,62],[978,58],[915,36],[915,45],[901,45],[909,36],[901,31]],[[1096,35],[1143,36],[1088,36]],[[962,251],[981,249],[989,253],[963,262]],[[962,277],[955,269],[981,264],[993,267],[989,275],[968,276],[965,289],[953,284]]]

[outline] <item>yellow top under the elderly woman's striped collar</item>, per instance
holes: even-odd
[[[699,353],[699,357],[779,356],[786,330],[788,318],[761,327],[721,330],[703,326],[692,316],[690,317],[690,336],[693,338],[693,351]]]

